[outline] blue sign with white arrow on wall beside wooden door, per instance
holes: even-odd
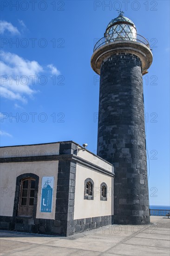
[[[52,212],[54,177],[42,177],[40,212]]]

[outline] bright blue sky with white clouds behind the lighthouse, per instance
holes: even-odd
[[[1,146],[72,140],[96,153],[99,82],[90,59],[120,7],[153,49],[143,77],[149,195],[150,204],[169,205],[168,0],[2,0]]]

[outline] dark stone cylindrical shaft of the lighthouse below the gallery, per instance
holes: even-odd
[[[141,61],[114,54],[102,62],[98,155],[114,165],[114,223],[150,223]]]

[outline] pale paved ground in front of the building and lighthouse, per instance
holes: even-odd
[[[1,231],[0,256],[169,256],[170,219],[150,225],[110,225],[70,237]]]

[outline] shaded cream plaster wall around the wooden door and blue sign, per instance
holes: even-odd
[[[56,188],[59,161],[42,162],[13,162],[0,164],[0,215],[13,216],[16,178],[24,173],[33,173],[39,176],[39,191],[36,218],[55,219]],[[52,213],[39,212],[42,176],[54,176],[54,193]]]

